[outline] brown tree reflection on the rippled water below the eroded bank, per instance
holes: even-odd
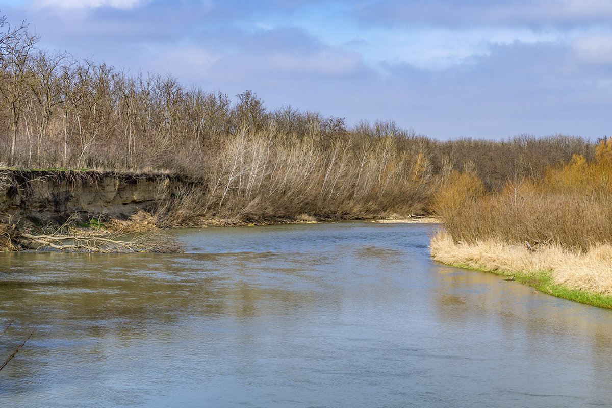
[[[221,270],[217,256],[201,254],[19,255],[20,262],[10,264],[21,267],[0,283],[1,304],[20,311],[21,321],[52,319],[65,330],[83,330],[83,321],[99,327],[101,321],[114,320],[109,330],[129,335],[147,322],[170,324],[185,314],[239,319],[316,300],[309,291],[258,281],[258,255],[218,262]],[[40,261],[43,257],[48,259]],[[58,270],[49,270],[54,261]]]

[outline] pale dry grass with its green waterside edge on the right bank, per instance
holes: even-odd
[[[548,245],[526,246],[484,241],[455,243],[446,231],[431,238],[431,258],[441,264],[505,276],[544,294],[612,309],[612,250],[598,245],[588,253]],[[599,264],[597,264],[599,262]]]

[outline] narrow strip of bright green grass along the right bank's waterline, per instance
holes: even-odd
[[[499,270],[489,271],[474,268],[466,264],[453,264],[453,267],[469,270],[477,270],[480,272],[491,272],[496,275],[509,276],[512,280],[517,281],[527,286],[533,287],[535,290],[559,297],[561,299],[572,300],[572,302],[583,303],[583,305],[597,306],[600,308],[612,309],[612,296],[604,295],[596,292],[584,291],[583,289],[573,289],[562,284],[554,283],[551,271],[537,271],[532,273],[512,273],[502,272]]]

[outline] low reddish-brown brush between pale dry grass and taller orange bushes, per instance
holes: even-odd
[[[549,242],[586,251],[594,243],[610,240],[611,210],[607,200],[572,191],[540,191],[524,181],[517,188],[509,186],[441,218],[457,241]]]

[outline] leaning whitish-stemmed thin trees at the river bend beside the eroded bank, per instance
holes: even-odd
[[[313,131],[279,143],[282,136],[273,126],[243,128],[206,164],[200,189],[179,193],[170,213],[257,220],[424,212],[431,169],[422,152],[405,148],[405,140],[326,139]]]

